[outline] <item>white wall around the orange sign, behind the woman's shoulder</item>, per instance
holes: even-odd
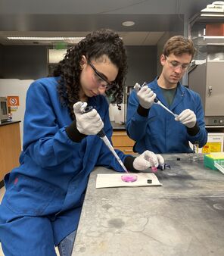
[[[23,145],[23,118],[26,105],[26,91],[33,80],[0,79],[0,96],[19,96],[20,105],[12,112],[13,121],[20,122],[20,139]]]

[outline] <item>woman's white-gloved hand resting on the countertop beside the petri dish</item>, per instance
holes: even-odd
[[[161,155],[156,155],[154,152],[148,150],[143,152],[142,155],[139,155],[133,161],[133,167],[136,170],[146,170],[149,167],[158,167],[159,164],[164,164],[163,157]]]

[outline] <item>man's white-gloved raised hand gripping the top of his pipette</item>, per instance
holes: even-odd
[[[151,108],[157,95],[148,86],[142,86],[140,90],[139,88],[141,88],[139,84],[135,83],[134,89],[137,92],[139,104],[142,108]]]

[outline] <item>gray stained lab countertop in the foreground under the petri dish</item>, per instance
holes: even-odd
[[[163,186],[95,189],[97,173],[113,173],[95,168],[72,255],[224,255],[224,175],[185,154],[163,157]]]

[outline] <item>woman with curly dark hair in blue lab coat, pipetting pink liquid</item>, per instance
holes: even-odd
[[[5,255],[55,255],[54,246],[70,255],[89,173],[99,165],[123,171],[96,134],[104,127],[111,139],[104,95],[121,103],[126,70],[120,37],[98,30],[68,49],[54,76],[31,84],[20,167],[5,176],[0,206]],[[94,109],[82,114],[82,102]],[[163,164],[150,151],[117,154],[128,170]]]

